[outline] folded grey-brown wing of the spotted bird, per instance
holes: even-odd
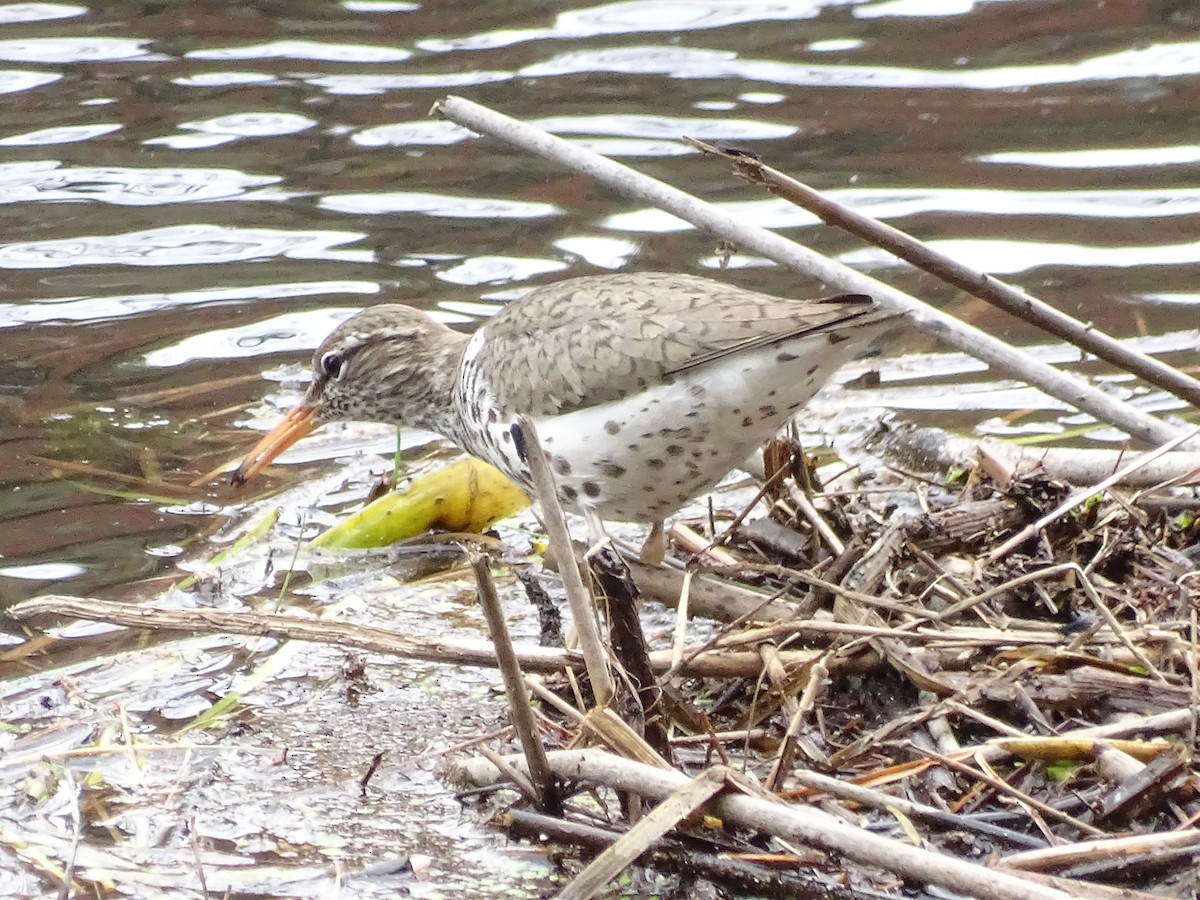
[[[484,326],[475,362],[502,404],[553,415],[620,400],[731,353],[876,318],[863,294],[793,301],[690,275],[583,277],[539,288],[498,313]],[[540,352],[530,356],[529,347]]]

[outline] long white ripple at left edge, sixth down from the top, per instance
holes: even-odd
[[[286,232],[211,224],[53,241],[0,244],[0,269],[66,269],[80,265],[191,265],[248,259],[341,259],[372,262],[362,250],[335,251],[361,240],[353,232]]]

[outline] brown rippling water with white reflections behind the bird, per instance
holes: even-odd
[[[209,557],[245,498],[192,482],[254,442],[353,310],[469,323],[566,276],[718,265],[710,236],[430,119],[448,92],[1019,343],[1039,338],[680,137],[751,150],[1117,336],[1193,329],[1198,24],[1186,4],[1032,0],[0,5],[0,605],[154,596]],[[742,254],[722,277],[821,290]],[[1200,365],[1193,338],[1163,343]],[[1112,437],[973,368],[896,404]],[[312,462],[329,455],[252,490],[335,472]]]

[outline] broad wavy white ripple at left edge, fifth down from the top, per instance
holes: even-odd
[[[157,206],[228,199],[252,187],[278,181],[274,175],[247,175],[236,169],[133,169],[62,166],[55,161],[14,162],[0,164],[0,204],[96,200],[120,206]]]

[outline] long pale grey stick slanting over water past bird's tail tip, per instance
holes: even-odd
[[[434,103],[432,112],[480,134],[498,137],[529,152],[576,169],[628,197],[667,210],[700,228],[706,228],[733,241],[740,247],[746,247],[781,265],[818,278],[838,290],[870,294],[886,307],[908,313],[912,323],[922,331],[958,347],[1027,384],[1040,388],[1052,397],[1091,413],[1100,421],[1128,432],[1140,443],[1158,446],[1178,433],[1176,427],[1111,397],[1085,379],[1031,360],[1003,341],[984,334],[979,329],[965,325],[953,316],[935,310],[889,284],[857,272],[764,228],[738,221],[684,191],[553,137],[541,128],[455,96],[445,97]]]

